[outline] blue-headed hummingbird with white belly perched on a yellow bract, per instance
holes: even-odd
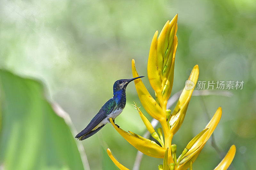
[[[110,117],[115,123],[115,118],[121,114],[126,104],[125,90],[127,85],[133,80],[142,77],[145,76],[117,80],[113,85],[114,96],[100,108],[100,111],[92,118],[91,122],[86,126],[86,128],[84,128],[84,130],[78,133],[75,138],[78,140],[84,140],[91,137],[107,123],[110,123]],[[119,128],[118,125],[116,126]]]

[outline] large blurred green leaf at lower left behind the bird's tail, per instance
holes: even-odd
[[[5,169],[84,169],[75,138],[39,82],[0,70],[0,86]]]

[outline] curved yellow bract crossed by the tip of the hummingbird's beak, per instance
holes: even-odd
[[[135,61],[132,59],[132,75],[138,76],[138,73],[135,68]],[[156,100],[153,99],[153,97],[149,94],[147,88],[142,83],[141,79],[138,78],[134,80],[135,87],[138,93],[138,96],[140,98],[140,102],[145,108],[145,110],[148,112],[150,116],[152,116],[156,120],[163,120],[164,118],[164,112],[161,109],[161,107],[156,103]]]

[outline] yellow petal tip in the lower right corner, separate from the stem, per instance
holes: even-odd
[[[228,153],[226,156],[222,159],[222,161],[219,163],[214,170],[226,170],[228,169],[229,165],[231,164],[232,160],[234,159],[234,156],[236,154],[236,146],[232,145],[230,149],[228,150]]]

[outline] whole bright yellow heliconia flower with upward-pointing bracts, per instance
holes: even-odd
[[[180,126],[183,123],[199,75],[198,65],[195,65],[185,83],[185,87],[175,108],[173,111],[167,109],[167,101],[172,91],[175,54],[178,45],[176,36],[178,28],[177,20],[178,14],[175,15],[171,21],[168,20],[165,23],[158,38],[158,31],[155,32],[151,42],[148,56],[148,79],[151,87],[155,91],[155,99],[148,92],[141,79],[134,80],[142,106],[152,118],[160,122],[162,127],[155,130],[147,117],[141,112],[140,107],[138,107],[135,102],[133,106],[138,111],[142,122],[145,124],[151,136],[155,138],[159,144],[145,137],[141,137],[136,133],[130,131],[128,131],[128,133],[124,131],[117,127],[112,118],[110,118],[110,122],[116,131],[137,150],[148,156],[164,159],[163,164],[158,165],[159,170],[185,170],[188,168],[192,170],[192,164],[195,162],[205,143],[212,135],[222,114],[221,107],[219,107],[211,121],[187,144],[177,159],[177,146],[176,144],[172,144],[172,137],[180,129]],[[134,59],[132,59],[132,75],[134,78],[139,76],[135,68]],[[235,145],[232,145],[225,158],[215,169],[227,169],[234,158],[235,152],[236,147]],[[128,169],[113,157],[109,149],[108,155],[117,167],[122,170]]]

